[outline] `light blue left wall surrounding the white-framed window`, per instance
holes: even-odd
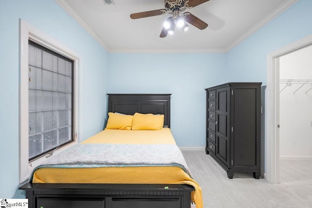
[[[108,53],[54,0],[0,0],[0,198],[19,186],[19,19],[81,57],[79,141],[99,132],[106,114]]]

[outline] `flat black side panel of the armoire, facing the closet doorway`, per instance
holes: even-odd
[[[235,86],[232,100],[234,169],[256,169],[260,164],[260,89]]]

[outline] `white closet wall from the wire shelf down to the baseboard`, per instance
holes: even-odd
[[[312,156],[312,79],[280,80],[280,156]]]

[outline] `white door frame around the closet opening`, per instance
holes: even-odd
[[[279,183],[279,57],[312,44],[312,35],[286,45],[267,56],[265,108],[265,178]]]

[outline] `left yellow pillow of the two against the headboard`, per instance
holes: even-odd
[[[131,130],[132,120],[132,115],[120,115],[109,112],[105,129]]]

